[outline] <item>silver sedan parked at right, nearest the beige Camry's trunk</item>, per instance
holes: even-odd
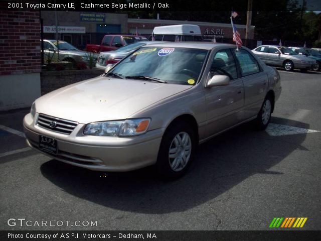
[[[315,68],[316,61],[299,55],[290,48],[272,45],[261,45],[252,50],[264,63],[283,67],[286,71],[300,69],[306,71]]]

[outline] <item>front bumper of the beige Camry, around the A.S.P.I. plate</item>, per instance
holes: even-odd
[[[82,134],[78,124],[70,135],[52,132],[35,125],[31,114],[24,118],[27,144],[53,159],[95,171],[125,172],[156,163],[164,130],[149,131],[136,137],[96,137]],[[57,154],[39,149],[39,135],[55,138]]]

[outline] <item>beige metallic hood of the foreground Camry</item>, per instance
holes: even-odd
[[[101,76],[65,86],[38,98],[36,111],[83,124],[125,119],[191,87]]]

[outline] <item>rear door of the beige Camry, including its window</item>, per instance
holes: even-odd
[[[242,115],[247,119],[258,114],[268,88],[268,79],[252,53],[239,49],[234,50],[234,54],[241,75],[240,79],[244,84]]]

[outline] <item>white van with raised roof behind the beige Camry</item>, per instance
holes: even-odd
[[[191,24],[155,27],[153,35],[159,41],[202,41],[200,27]]]

